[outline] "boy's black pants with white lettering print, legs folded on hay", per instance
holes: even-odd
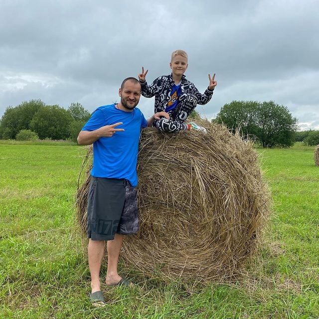
[[[197,105],[197,98],[192,94],[183,93],[179,97],[178,105],[176,108],[168,112],[170,119],[162,118],[154,121],[156,126],[161,132],[179,132],[187,130],[186,121],[188,115],[195,109]]]

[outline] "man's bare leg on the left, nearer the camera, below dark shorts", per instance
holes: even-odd
[[[104,240],[89,239],[88,258],[92,293],[100,291],[100,268],[104,254]]]

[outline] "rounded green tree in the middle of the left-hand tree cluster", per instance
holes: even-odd
[[[70,136],[69,126],[73,121],[67,110],[58,105],[47,105],[35,113],[30,128],[40,139],[65,140]]]

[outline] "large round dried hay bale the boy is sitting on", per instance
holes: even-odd
[[[220,125],[207,134],[145,129],[138,160],[140,230],[127,236],[129,269],[162,278],[230,280],[259,242],[270,196],[252,143]],[[78,190],[86,229],[89,169]]]

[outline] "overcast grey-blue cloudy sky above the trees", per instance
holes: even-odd
[[[232,100],[287,106],[301,129],[319,129],[319,0],[0,0],[0,116],[41,99],[92,112],[119,101],[128,76],[169,74],[170,54],[188,53],[196,110],[213,118]],[[154,98],[141,97],[146,117]]]

